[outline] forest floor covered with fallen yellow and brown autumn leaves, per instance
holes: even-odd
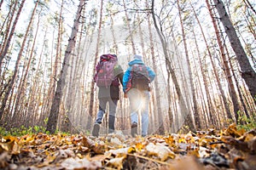
[[[256,169],[256,130],[131,138],[28,134],[0,141],[0,169]]]

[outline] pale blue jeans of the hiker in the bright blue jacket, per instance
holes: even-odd
[[[138,112],[142,114],[142,135],[148,135],[148,105],[150,94],[148,90],[139,91],[136,88],[131,88],[127,96],[130,100],[131,107],[131,124],[138,122]]]

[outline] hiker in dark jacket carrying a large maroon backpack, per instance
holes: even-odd
[[[124,71],[118,64],[115,54],[102,54],[96,65],[94,81],[99,88],[99,110],[92,129],[92,135],[98,137],[102,118],[108,104],[108,133],[114,132],[115,113],[119,100],[119,85],[123,84]]]

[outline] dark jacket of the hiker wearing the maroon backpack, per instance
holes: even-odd
[[[124,71],[120,65],[115,65],[113,74],[117,79],[116,81],[119,82],[118,84],[123,85]],[[112,82],[111,86],[108,88],[99,88],[98,98],[119,99],[119,85],[116,85],[116,83]]]

